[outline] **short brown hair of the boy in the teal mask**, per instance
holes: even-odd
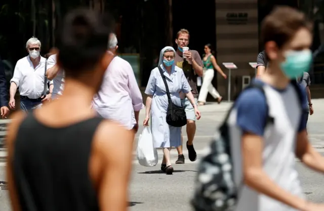
[[[278,6],[262,21],[261,39],[263,44],[274,41],[281,48],[301,28],[312,31],[312,24],[302,12],[288,6]]]

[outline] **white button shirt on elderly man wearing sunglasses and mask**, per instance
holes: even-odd
[[[41,61],[34,68],[29,56],[18,60],[10,83],[14,82],[19,87],[20,95],[31,99],[37,99],[43,95],[45,61],[46,59],[41,57]],[[50,81],[50,84],[53,84],[53,81]]]

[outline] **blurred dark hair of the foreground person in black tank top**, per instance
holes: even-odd
[[[58,34],[58,61],[66,76],[91,70],[107,51],[111,20],[89,9],[69,12]]]

